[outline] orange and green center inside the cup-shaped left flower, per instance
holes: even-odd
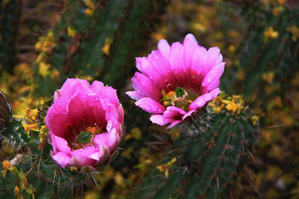
[[[70,144],[71,151],[83,149],[86,146],[94,146],[93,139],[97,134],[106,133],[103,126],[101,128],[99,127],[87,127],[85,131],[81,131],[77,135],[77,139],[75,143]]]

